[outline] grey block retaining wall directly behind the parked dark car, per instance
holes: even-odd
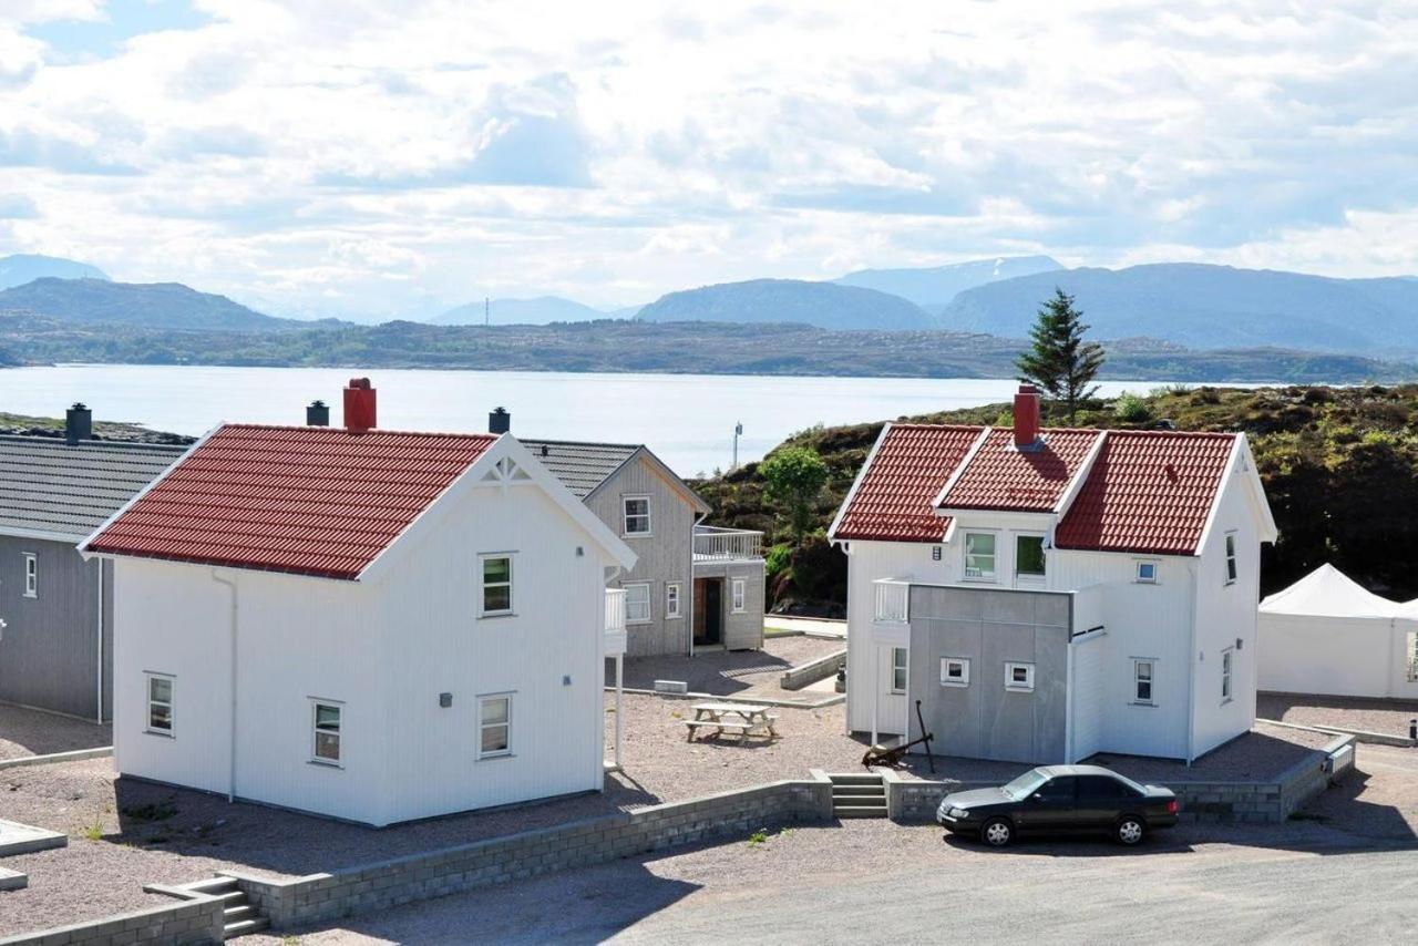
[[[1183,821],[1285,821],[1354,767],[1354,738],[1339,736],[1268,781],[1174,781]],[[994,783],[925,781],[885,773],[886,811],[893,821],[932,821],[940,800]]]

